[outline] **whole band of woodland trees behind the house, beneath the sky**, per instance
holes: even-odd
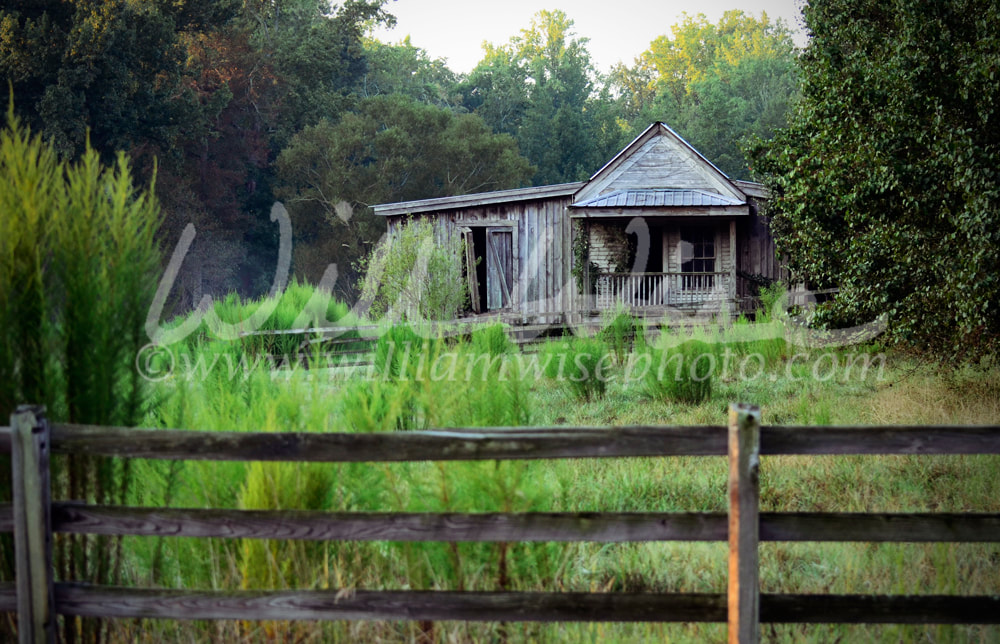
[[[0,78],[67,159],[119,150],[157,176],[159,239],[197,235],[167,313],[203,295],[256,297],[275,271],[286,200],[293,270],[357,297],[384,232],[371,204],[576,181],[654,120],[735,176],[739,140],[768,136],[795,94],[787,30],[729,12],[686,17],[609,76],[562,11],[542,11],[456,74],[392,24],[386,0],[42,0],[0,8]],[[664,25],[664,33],[669,26]],[[412,172],[404,166],[415,161]],[[346,217],[350,206],[351,217]],[[339,210],[338,210],[339,207]]]

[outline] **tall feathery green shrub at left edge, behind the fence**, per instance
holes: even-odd
[[[136,368],[159,269],[159,206],[136,190],[124,154],[112,167],[88,149],[74,163],[22,127],[11,106],[0,133],[0,418],[18,403],[44,404],[49,419],[136,425],[145,383]],[[0,421],[3,422],[3,421]],[[8,461],[9,463],[9,461]],[[0,465],[0,501],[9,471]],[[53,498],[121,503],[128,465],[85,455],[52,461]],[[57,575],[118,584],[128,569],[120,538],[60,535]],[[11,579],[0,543],[0,578]],[[64,636],[95,639],[93,620],[67,621]]]

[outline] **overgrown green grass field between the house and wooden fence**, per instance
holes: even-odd
[[[426,344],[411,331],[397,329],[385,337],[408,342],[407,359],[393,363],[383,343],[376,348],[381,361],[367,378],[331,378],[322,369],[274,371],[266,362],[241,363],[249,349],[239,341],[192,338],[173,350],[188,352],[195,361],[218,355],[230,360],[216,360],[215,368],[204,366],[211,359],[203,360],[201,370],[177,372],[156,383],[146,424],[314,432],[720,425],[732,401],[760,405],[766,424],[996,424],[1000,418],[1000,374],[990,366],[946,369],[917,356],[881,353],[878,347],[807,350],[776,338],[773,326],[741,322],[737,327],[694,336],[650,334],[648,342],[624,349],[616,340],[620,333],[608,332],[586,340],[552,340],[530,355],[505,342],[495,328],[469,340]],[[599,388],[581,387],[581,372],[574,369],[582,365],[593,376],[597,366],[574,357],[595,347],[607,352],[604,382]],[[709,347],[716,360],[701,402],[683,402],[683,395],[659,385],[662,378],[639,373],[641,356],[663,364],[691,347]],[[394,355],[398,359],[400,353]],[[748,362],[751,355],[760,357]],[[551,368],[551,360],[548,370],[531,367],[533,360],[544,363],[546,357],[558,363],[559,356],[565,357],[561,370]],[[860,368],[862,358],[868,360],[867,371]],[[672,368],[664,373],[672,374]],[[726,509],[726,462],[709,457],[335,466],[142,461],[137,467],[140,485],[130,502],[139,505],[472,512]],[[1000,512],[1000,458],[993,456],[765,457],[761,471],[763,511]],[[135,585],[593,592],[726,588],[724,543],[127,538],[125,545],[128,580]],[[763,592],[1000,593],[1000,544],[766,543],[761,562]],[[769,641],[788,642],[1000,640],[997,628],[964,626],[765,625],[763,632]],[[138,641],[417,641],[421,636],[416,624],[372,622],[122,621],[115,633]],[[490,642],[502,634],[510,641],[704,642],[724,639],[725,626],[439,623],[433,639]]]

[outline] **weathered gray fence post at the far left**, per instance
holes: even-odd
[[[55,642],[45,408],[19,406],[11,415],[10,427],[18,640],[21,644]]]

